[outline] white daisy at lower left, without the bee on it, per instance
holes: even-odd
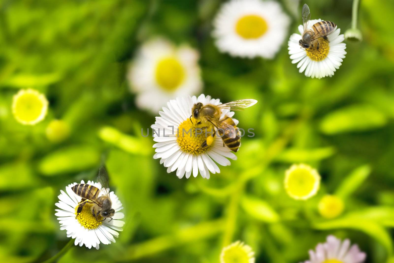
[[[81,184],[85,182],[82,180]],[[118,197],[110,192],[110,199],[112,201],[112,208],[115,210],[113,220],[106,219],[98,222],[93,217],[91,212],[91,204],[85,204],[82,208],[81,213],[77,213],[78,204],[81,202],[82,197],[76,195],[72,191],[72,186],[77,183],[69,184],[66,186],[66,192],[60,190],[58,196],[59,202],[55,205],[60,209],[55,209],[55,215],[58,216],[60,223],[60,230],[67,231],[67,237],[75,238],[74,245],[79,243],[80,246],[85,245],[87,248],[99,249],[100,242],[107,245],[111,242],[116,242],[114,237],[118,237],[118,231],[123,231],[122,226],[125,222],[118,219],[122,219],[125,215],[119,212],[123,209],[122,203]],[[95,186],[100,189],[99,196],[105,193],[104,189],[101,188],[100,183],[93,181],[87,181],[87,184]]]

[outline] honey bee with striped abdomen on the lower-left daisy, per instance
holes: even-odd
[[[76,184],[71,188],[74,193],[82,197],[77,213],[80,213],[84,205],[89,203],[93,204],[91,208],[92,215],[98,222],[104,221],[108,217],[112,220],[115,210],[112,208],[110,188],[108,186],[108,175],[104,167],[100,167],[99,177],[97,179],[101,183],[101,187],[105,192],[100,197],[100,189],[90,184]],[[99,221],[99,217],[102,217],[103,219]]]

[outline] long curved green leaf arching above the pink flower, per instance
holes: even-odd
[[[383,226],[373,220],[364,219],[363,217],[348,216],[331,221],[314,223],[313,228],[319,230],[341,228],[359,230],[376,239],[381,245],[383,245],[389,256],[391,256],[393,252],[393,244],[390,235]]]

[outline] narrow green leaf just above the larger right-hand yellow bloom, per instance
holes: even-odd
[[[281,162],[295,163],[295,162],[311,162],[319,161],[330,157],[335,153],[333,147],[323,147],[316,149],[287,149],[279,154],[275,160]]]

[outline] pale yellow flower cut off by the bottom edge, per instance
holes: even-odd
[[[248,245],[236,241],[222,249],[220,263],[255,263],[255,252]]]

